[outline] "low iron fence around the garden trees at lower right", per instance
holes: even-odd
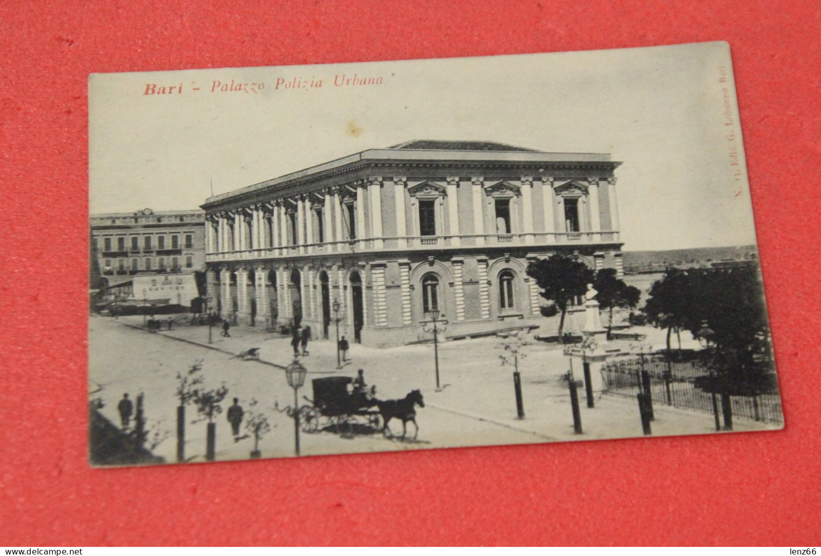
[[[635,400],[636,394],[649,393],[655,405],[712,413],[713,404],[717,403],[714,398],[721,398],[721,394],[713,395],[695,386],[696,379],[709,376],[709,370],[698,359],[673,361],[658,355],[629,358],[608,363],[602,368],[602,375],[604,394]],[[778,424],[784,422],[781,397],[777,393],[732,395],[727,398],[732,417]]]

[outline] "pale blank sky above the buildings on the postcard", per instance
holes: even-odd
[[[196,208],[410,139],[611,153],[624,249],[755,243],[727,43],[90,75],[89,208]]]

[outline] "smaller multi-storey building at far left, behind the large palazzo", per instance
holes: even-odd
[[[205,266],[204,211],[144,208],[89,220],[91,267],[103,289],[119,298],[182,305],[196,297],[194,272]]]

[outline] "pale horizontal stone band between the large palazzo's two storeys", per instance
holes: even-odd
[[[243,249],[237,251],[207,253],[208,262],[236,261],[241,259],[300,257],[326,253],[363,253],[384,250],[425,250],[431,248],[464,248],[480,246],[607,244],[618,242],[618,232],[534,232],[532,234],[468,234],[422,235],[406,237],[382,237],[350,239],[321,244],[283,245]]]

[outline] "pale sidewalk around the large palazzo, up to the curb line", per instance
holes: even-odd
[[[142,317],[120,317],[128,326],[142,327]],[[654,330],[655,336],[663,330]],[[250,326],[232,326],[231,337],[223,338],[222,329],[213,326],[212,340],[208,343],[207,326],[177,323],[172,330],[157,334],[183,340],[190,344],[236,355],[250,348],[259,348],[260,361],[285,368],[293,360],[290,337],[255,329]],[[682,339],[683,340],[683,339]],[[629,343],[627,343],[629,344]],[[365,379],[377,386],[379,399],[399,399],[410,390],[424,394],[426,406],[438,408],[477,422],[506,426],[542,440],[592,440],[626,438],[642,435],[638,403],[617,396],[599,396],[595,408],[587,408],[585,392],[579,390],[583,435],[573,431],[570,396],[566,383],[560,377],[568,368],[562,349],[556,345],[534,342],[525,348],[526,357],[520,362],[525,419],[516,418],[512,369],[499,362],[501,349],[494,337],[458,340],[439,344],[439,372],[443,389],[436,391],[433,369],[433,345],[415,344],[394,348],[368,348],[351,344],[351,361],[337,369],[334,341],[312,340],[309,355],[300,356],[300,362],[310,375],[340,374],[354,376],[359,368],[365,369]],[[579,371],[579,369],[576,369]],[[308,379],[310,383],[310,377]],[[311,395],[306,384],[305,395]],[[667,407],[656,403],[654,435],[691,435],[715,432],[713,415]],[[420,410],[424,412],[424,409]],[[736,419],[736,431],[776,428],[761,422]],[[470,444],[482,444],[480,432]]]

